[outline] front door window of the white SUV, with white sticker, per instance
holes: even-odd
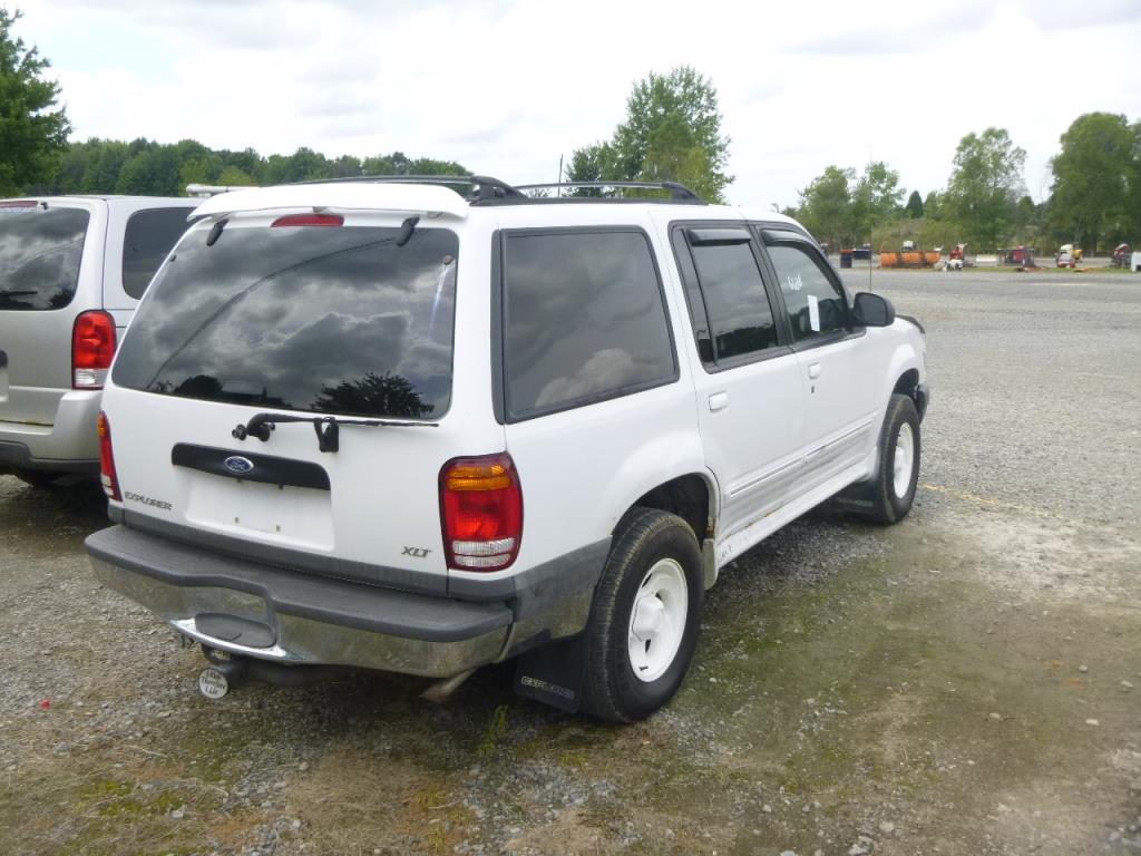
[[[769,244],[768,251],[780,282],[793,339],[804,341],[848,329],[843,290],[828,278],[807,248]]]

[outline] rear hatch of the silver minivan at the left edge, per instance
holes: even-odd
[[[99,216],[96,216],[96,215]],[[72,324],[98,301],[94,202],[0,202],[0,422],[51,426],[72,386]]]

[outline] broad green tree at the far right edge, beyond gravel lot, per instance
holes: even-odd
[[[1050,221],[1087,252],[1102,240],[1110,248],[1124,240],[1130,213],[1131,172],[1138,159],[1138,137],[1123,115],[1086,113],[1061,136],[1061,152],[1051,162],[1054,183]]]

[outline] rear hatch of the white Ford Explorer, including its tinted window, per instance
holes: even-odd
[[[454,412],[459,249],[454,226],[391,215],[192,229],[104,397],[128,523],[443,591],[440,468],[503,447],[494,420],[480,430]]]

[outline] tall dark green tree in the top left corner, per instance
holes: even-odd
[[[71,131],[50,63],[11,33],[19,17],[0,8],[0,196],[51,180]]]

